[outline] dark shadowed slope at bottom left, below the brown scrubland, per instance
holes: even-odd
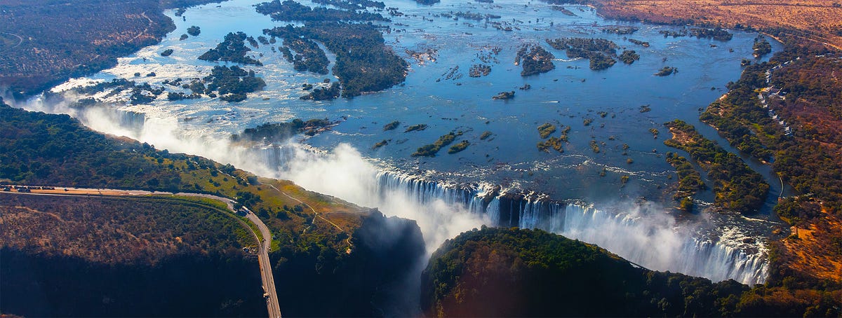
[[[261,316],[257,261],[241,252],[147,264],[0,249],[0,312],[24,316]]]

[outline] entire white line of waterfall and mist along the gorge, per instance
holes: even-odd
[[[482,225],[552,231],[594,243],[639,266],[743,284],[765,281],[769,264],[762,239],[730,219],[677,222],[653,204],[556,202],[491,184],[457,185],[409,176],[366,159],[354,147],[314,151],[296,143],[247,148],[203,131],[185,131],[173,119],[109,108],[73,109],[35,99],[24,109],[71,114],[84,125],[125,135],[159,149],[205,156],[270,178],[290,179],[304,188],[386,215],[416,220],[428,252],[462,231]],[[717,231],[711,231],[717,229]]]

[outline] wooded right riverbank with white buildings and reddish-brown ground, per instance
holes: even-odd
[[[772,277],[804,294],[827,294],[840,289],[842,273],[842,85],[834,76],[842,66],[838,53],[818,45],[790,36],[784,45],[769,62],[747,66],[701,119],[741,151],[770,162],[795,189],[775,206],[794,231],[770,241]]]

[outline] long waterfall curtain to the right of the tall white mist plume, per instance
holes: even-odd
[[[765,248],[734,246],[735,240],[704,238],[669,215],[610,213],[581,203],[553,202],[534,194],[498,193],[488,186],[443,186],[394,172],[379,172],[377,195],[405,193],[419,204],[444,200],[491,225],[541,229],[601,246],[641,266],[722,281],[762,284],[769,271]]]

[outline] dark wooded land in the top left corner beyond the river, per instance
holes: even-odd
[[[19,45],[3,51],[0,86],[17,98],[115,66],[117,58],[156,44],[175,28],[163,8],[208,0],[75,0],[0,3],[0,31]],[[15,37],[17,39],[17,37]],[[31,40],[30,40],[31,39]]]

